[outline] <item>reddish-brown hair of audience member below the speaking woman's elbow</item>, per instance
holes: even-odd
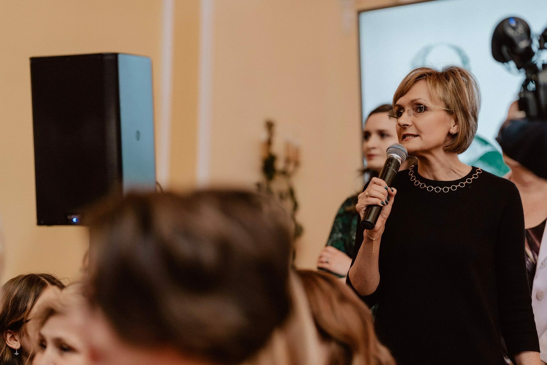
[[[376,338],[368,307],[327,273],[297,270],[319,333],[328,343],[329,365],[394,365]]]

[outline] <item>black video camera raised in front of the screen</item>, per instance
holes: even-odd
[[[526,113],[529,120],[547,121],[547,63],[540,62],[536,57],[546,48],[546,42],[547,29],[532,39],[526,21],[515,16],[502,20],[492,35],[494,60],[501,63],[513,61],[517,69],[525,71],[526,79],[519,93],[519,109]]]

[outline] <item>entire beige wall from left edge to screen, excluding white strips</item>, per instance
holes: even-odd
[[[173,0],[172,189],[196,184],[200,4]],[[296,262],[314,267],[336,208],[360,183],[356,12],[403,0],[212,0],[210,169],[214,184],[253,187],[266,118],[298,138],[295,184],[305,234]],[[86,250],[79,227],[37,227],[28,57],[126,52],[153,59],[156,149],[162,105],[162,0],[0,0],[0,218],[3,279],[48,271],[77,279]],[[203,71],[203,70],[201,70]],[[206,70],[207,71],[207,70]],[[202,80],[201,80],[202,81]]]

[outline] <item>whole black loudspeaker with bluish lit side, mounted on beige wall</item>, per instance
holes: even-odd
[[[38,225],[79,224],[106,194],[154,190],[152,62],[31,57]]]

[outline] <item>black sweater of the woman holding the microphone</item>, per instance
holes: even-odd
[[[433,187],[457,185],[476,172],[443,182],[414,169]],[[405,170],[393,187],[380,285],[362,298],[378,303],[376,331],[397,363],[502,365],[502,335],[509,354],[539,351],[515,185],[483,171],[464,187],[435,193],[415,186]],[[362,242],[357,229],[353,261]]]

